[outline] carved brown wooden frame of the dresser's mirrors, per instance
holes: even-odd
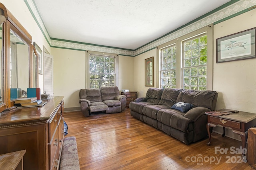
[[[4,104],[0,105],[0,112],[4,110],[10,110],[16,107],[14,106],[14,101],[10,100],[10,29],[16,35],[18,35],[28,46],[29,46],[29,53],[28,53],[28,66],[29,68],[29,87],[33,88],[33,65],[32,65],[32,57],[33,57],[33,45],[32,45],[32,36],[26,31],[26,29],[20,24],[20,22],[7,10],[7,8],[0,3],[0,15],[4,16],[5,21],[3,25],[3,49],[2,49],[2,60],[4,64],[4,91],[3,91],[3,100]],[[2,19],[2,17],[0,18]],[[1,20],[0,20],[1,21]],[[37,54],[37,53],[35,53]],[[38,56],[37,56],[38,57]],[[37,62],[38,63],[38,62]],[[37,64],[36,63],[36,64]],[[37,64],[38,66],[38,64]],[[37,67],[36,66],[36,67]],[[38,70],[36,71],[36,87],[38,87]]]

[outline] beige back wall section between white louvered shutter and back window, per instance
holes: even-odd
[[[85,51],[51,49],[54,96],[64,96],[65,108],[78,107],[79,90],[85,88]]]

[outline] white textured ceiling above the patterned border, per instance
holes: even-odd
[[[230,0],[34,0],[51,38],[137,49]]]

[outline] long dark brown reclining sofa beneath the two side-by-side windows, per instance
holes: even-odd
[[[133,117],[188,145],[208,135],[204,113],[215,109],[217,98],[218,93],[210,90],[150,88],[145,98],[137,98],[129,107]],[[188,111],[178,110],[188,106]]]

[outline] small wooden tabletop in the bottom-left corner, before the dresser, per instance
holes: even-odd
[[[1,170],[23,170],[23,156],[26,150],[0,154]]]

